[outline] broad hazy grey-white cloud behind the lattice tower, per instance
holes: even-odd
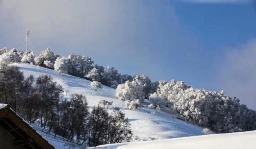
[[[194,66],[196,59],[189,57],[197,57],[200,49],[196,37],[180,27],[168,1],[6,0],[0,1],[0,20],[0,46],[20,47],[28,27],[36,53],[50,47],[61,56],[85,54],[99,65],[152,80],[163,77],[169,65],[176,67],[173,71],[179,65]],[[189,63],[178,65],[169,55]],[[164,75],[171,79],[170,74]]]

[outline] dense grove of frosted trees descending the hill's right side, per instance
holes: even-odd
[[[245,116],[251,114],[253,119],[255,112],[240,105],[236,97],[226,96],[224,91],[194,89],[182,81],[172,80],[169,83],[160,81],[157,94],[171,103],[170,108],[178,113],[180,119],[218,133],[246,130],[249,127],[245,122],[256,124]]]

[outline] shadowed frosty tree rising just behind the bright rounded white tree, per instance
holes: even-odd
[[[133,80],[143,85],[144,98],[148,99],[149,93],[151,91],[151,80],[148,76],[144,74],[136,74]]]

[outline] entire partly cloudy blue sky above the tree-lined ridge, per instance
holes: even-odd
[[[225,90],[256,109],[253,0],[0,0],[0,47],[85,54],[119,73]]]

